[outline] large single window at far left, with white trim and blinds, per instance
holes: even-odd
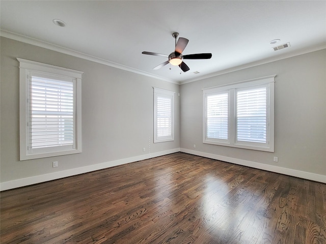
[[[83,72],[17,59],[20,160],[80,153]]]

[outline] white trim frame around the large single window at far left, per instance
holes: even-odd
[[[82,71],[42,64],[31,60],[17,58],[19,61],[19,136],[20,160],[39,159],[61,155],[77,154],[82,152]],[[31,154],[28,150],[28,74],[34,71],[75,79],[75,129],[76,138],[73,149],[51,151],[48,153]]]

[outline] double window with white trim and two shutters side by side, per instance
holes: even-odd
[[[274,151],[274,78],[203,89],[203,143]]]

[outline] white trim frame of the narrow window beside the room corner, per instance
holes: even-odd
[[[174,95],[175,92],[170,90],[165,90],[161,88],[154,88],[154,143],[174,141]],[[171,125],[171,135],[165,137],[157,136],[157,96],[165,96],[171,98],[171,116],[172,116],[172,125]]]

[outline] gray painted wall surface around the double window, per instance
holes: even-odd
[[[325,59],[320,50],[181,85],[180,148],[326,175]],[[268,75],[277,75],[275,153],[203,144],[201,89]]]

